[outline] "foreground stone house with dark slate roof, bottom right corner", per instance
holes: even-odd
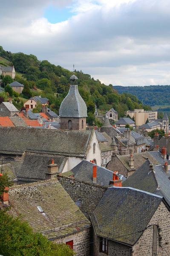
[[[165,256],[170,251],[170,206],[160,195],[110,187],[90,218],[93,256]]]

